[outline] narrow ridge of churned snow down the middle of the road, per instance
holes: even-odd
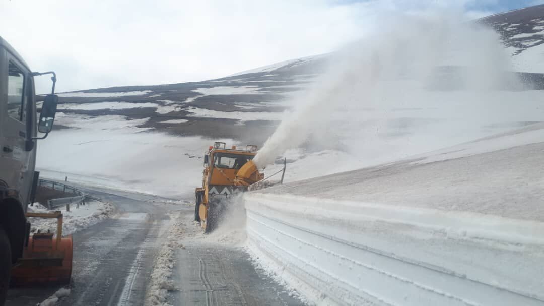
[[[168,291],[176,290],[175,284],[172,282],[171,277],[174,275],[172,269],[175,265],[174,252],[178,247],[182,247],[178,241],[182,235],[182,221],[181,215],[171,215],[172,225],[168,237],[162,248],[160,248],[158,255],[153,265],[153,272],[151,272],[151,280],[147,287],[145,303],[144,305],[160,305],[170,306],[166,302],[168,297]]]

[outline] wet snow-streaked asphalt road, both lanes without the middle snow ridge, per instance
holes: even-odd
[[[81,189],[85,189],[78,186]],[[192,222],[193,208],[152,195],[86,189],[114,203],[118,215],[76,232],[71,293],[58,305],[143,305],[153,260],[168,235],[170,213],[184,228],[176,250],[172,305],[299,305],[280,285],[256,270],[241,247],[215,243]],[[36,305],[60,286],[16,288],[7,306]]]

